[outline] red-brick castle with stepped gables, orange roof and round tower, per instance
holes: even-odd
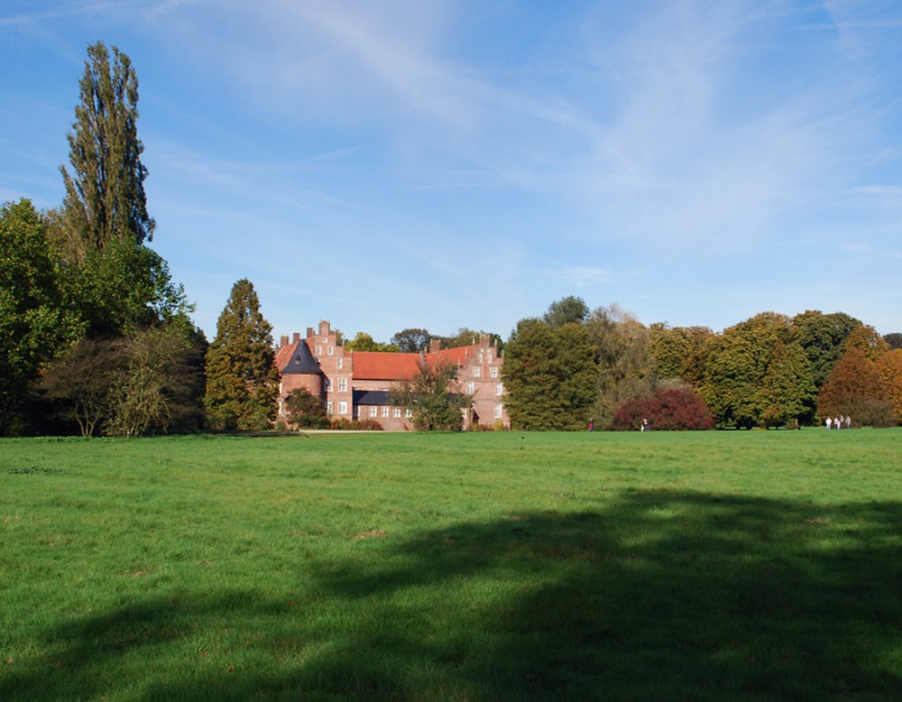
[[[439,348],[433,342],[421,354],[382,351],[350,351],[336,343],[336,332],[329,322],[308,328],[307,337],[296,333],[292,339],[281,337],[275,363],[281,373],[279,418],[288,420],[285,398],[298,388],[320,398],[330,418],[375,420],[384,430],[412,430],[410,411],[391,405],[389,393],[417,374],[419,364],[451,364],[457,368],[451,392],[473,397],[464,411],[464,429],[479,426],[510,429],[511,420],[504,409],[502,365],[504,358],[497,344],[482,336],[478,343],[456,348]]]

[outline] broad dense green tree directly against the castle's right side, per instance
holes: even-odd
[[[505,346],[502,376],[511,426],[582,430],[595,399],[595,347],[584,325],[521,319]]]

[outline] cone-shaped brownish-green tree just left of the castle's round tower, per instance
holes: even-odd
[[[263,318],[253,283],[235,282],[207,350],[207,421],[217,430],[262,430],[278,409],[279,372],[272,326]]]

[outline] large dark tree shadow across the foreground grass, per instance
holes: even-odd
[[[57,627],[60,683],[8,674],[0,697],[102,697],[121,688],[73,680],[190,623],[253,621],[256,652],[297,654],[170,670],[133,698],[902,699],[900,529],[898,503],[637,491],[389,534],[319,566],[299,609],[223,593]]]

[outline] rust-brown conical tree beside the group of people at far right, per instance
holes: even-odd
[[[858,425],[886,427],[897,423],[878,365],[859,346],[836,362],[817,396],[821,417],[851,416]]]

